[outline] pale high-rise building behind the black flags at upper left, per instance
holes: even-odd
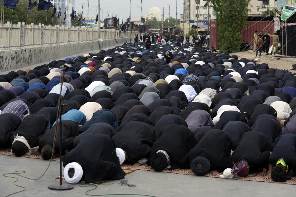
[[[75,11],[75,7],[74,7],[75,0],[50,0],[50,2],[52,3],[52,5],[55,4],[56,10],[57,10],[56,14],[58,14],[58,12],[60,11],[60,8],[62,8],[60,25],[71,26],[70,14],[72,13],[72,7],[74,8],[74,11]],[[66,11],[66,18],[64,14],[65,11]],[[65,18],[65,21],[64,21],[64,18]]]

